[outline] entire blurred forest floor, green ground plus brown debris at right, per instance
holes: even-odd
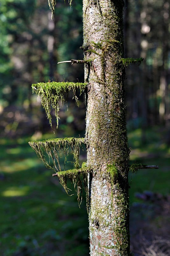
[[[131,251],[135,256],[170,255],[170,147],[157,127],[145,134],[137,129],[128,137],[130,164],[160,166],[129,175]],[[0,139],[0,255],[89,255],[85,196],[79,208],[76,195],[67,196],[29,140]]]

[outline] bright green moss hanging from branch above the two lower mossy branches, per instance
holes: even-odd
[[[32,84],[33,92],[36,92],[38,96],[41,97],[41,103],[43,108],[46,110],[47,118],[49,119],[50,125],[52,127],[52,117],[51,117],[51,106],[55,109],[55,116],[58,127],[59,115],[59,100],[64,101],[64,94],[68,91],[73,91],[73,99],[76,100],[78,104],[78,97],[76,96],[76,89],[80,89],[80,95],[86,88],[86,83],[72,83],[72,82],[48,82],[48,83],[38,83]]]

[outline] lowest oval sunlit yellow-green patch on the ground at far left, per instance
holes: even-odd
[[[26,196],[29,189],[29,186],[7,188],[1,193],[1,196]]]

